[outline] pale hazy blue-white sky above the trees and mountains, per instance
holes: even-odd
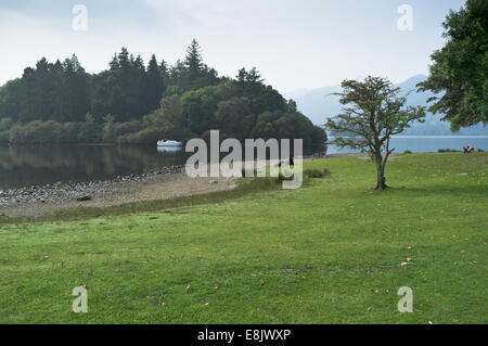
[[[75,30],[75,4],[88,29]],[[399,30],[401,4],[413,30]],[[367,75],[402,81],[427,74],[441,23],[462,0],[0,0],[0,85],[41,56],[77,54],[89,73],[123,46],[175,63],[192,38],[220,75],[256,66],[280,91]]]

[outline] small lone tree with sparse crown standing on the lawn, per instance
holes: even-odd
[[[341,148],[358,149],[369,153],[376,164],[375,190],[386,189],[385,166],[395,149],[389,148],[391,136],[410,127],[409,123],[424,121],[425,107],[407,106],[400,88],[394,88],[385,78],[369,76],[363,81],[346,79],[342,82],[343,113],[329,118],[325,128],[336,136]]]

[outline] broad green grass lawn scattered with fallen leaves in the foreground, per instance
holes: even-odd
[[[488,323],[487,167],[403,155],[373,192],[371,162],[318,159],[331,175],[298,190],[3,220],[0,322]],[[79,285],[88,313],[70,313]]]

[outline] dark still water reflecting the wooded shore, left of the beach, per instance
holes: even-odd
[[[0,146],[0,189],[111,179],[182,165],[187,157],[182,151],[158,152],[143,145]]]

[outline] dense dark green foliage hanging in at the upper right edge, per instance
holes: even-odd
[[[446,46],[432,54],[434,64],[421,91],[444,93],[429,111],[444,113],[451,130],[488,123],[488,1],[467,0],[444,22]]]

